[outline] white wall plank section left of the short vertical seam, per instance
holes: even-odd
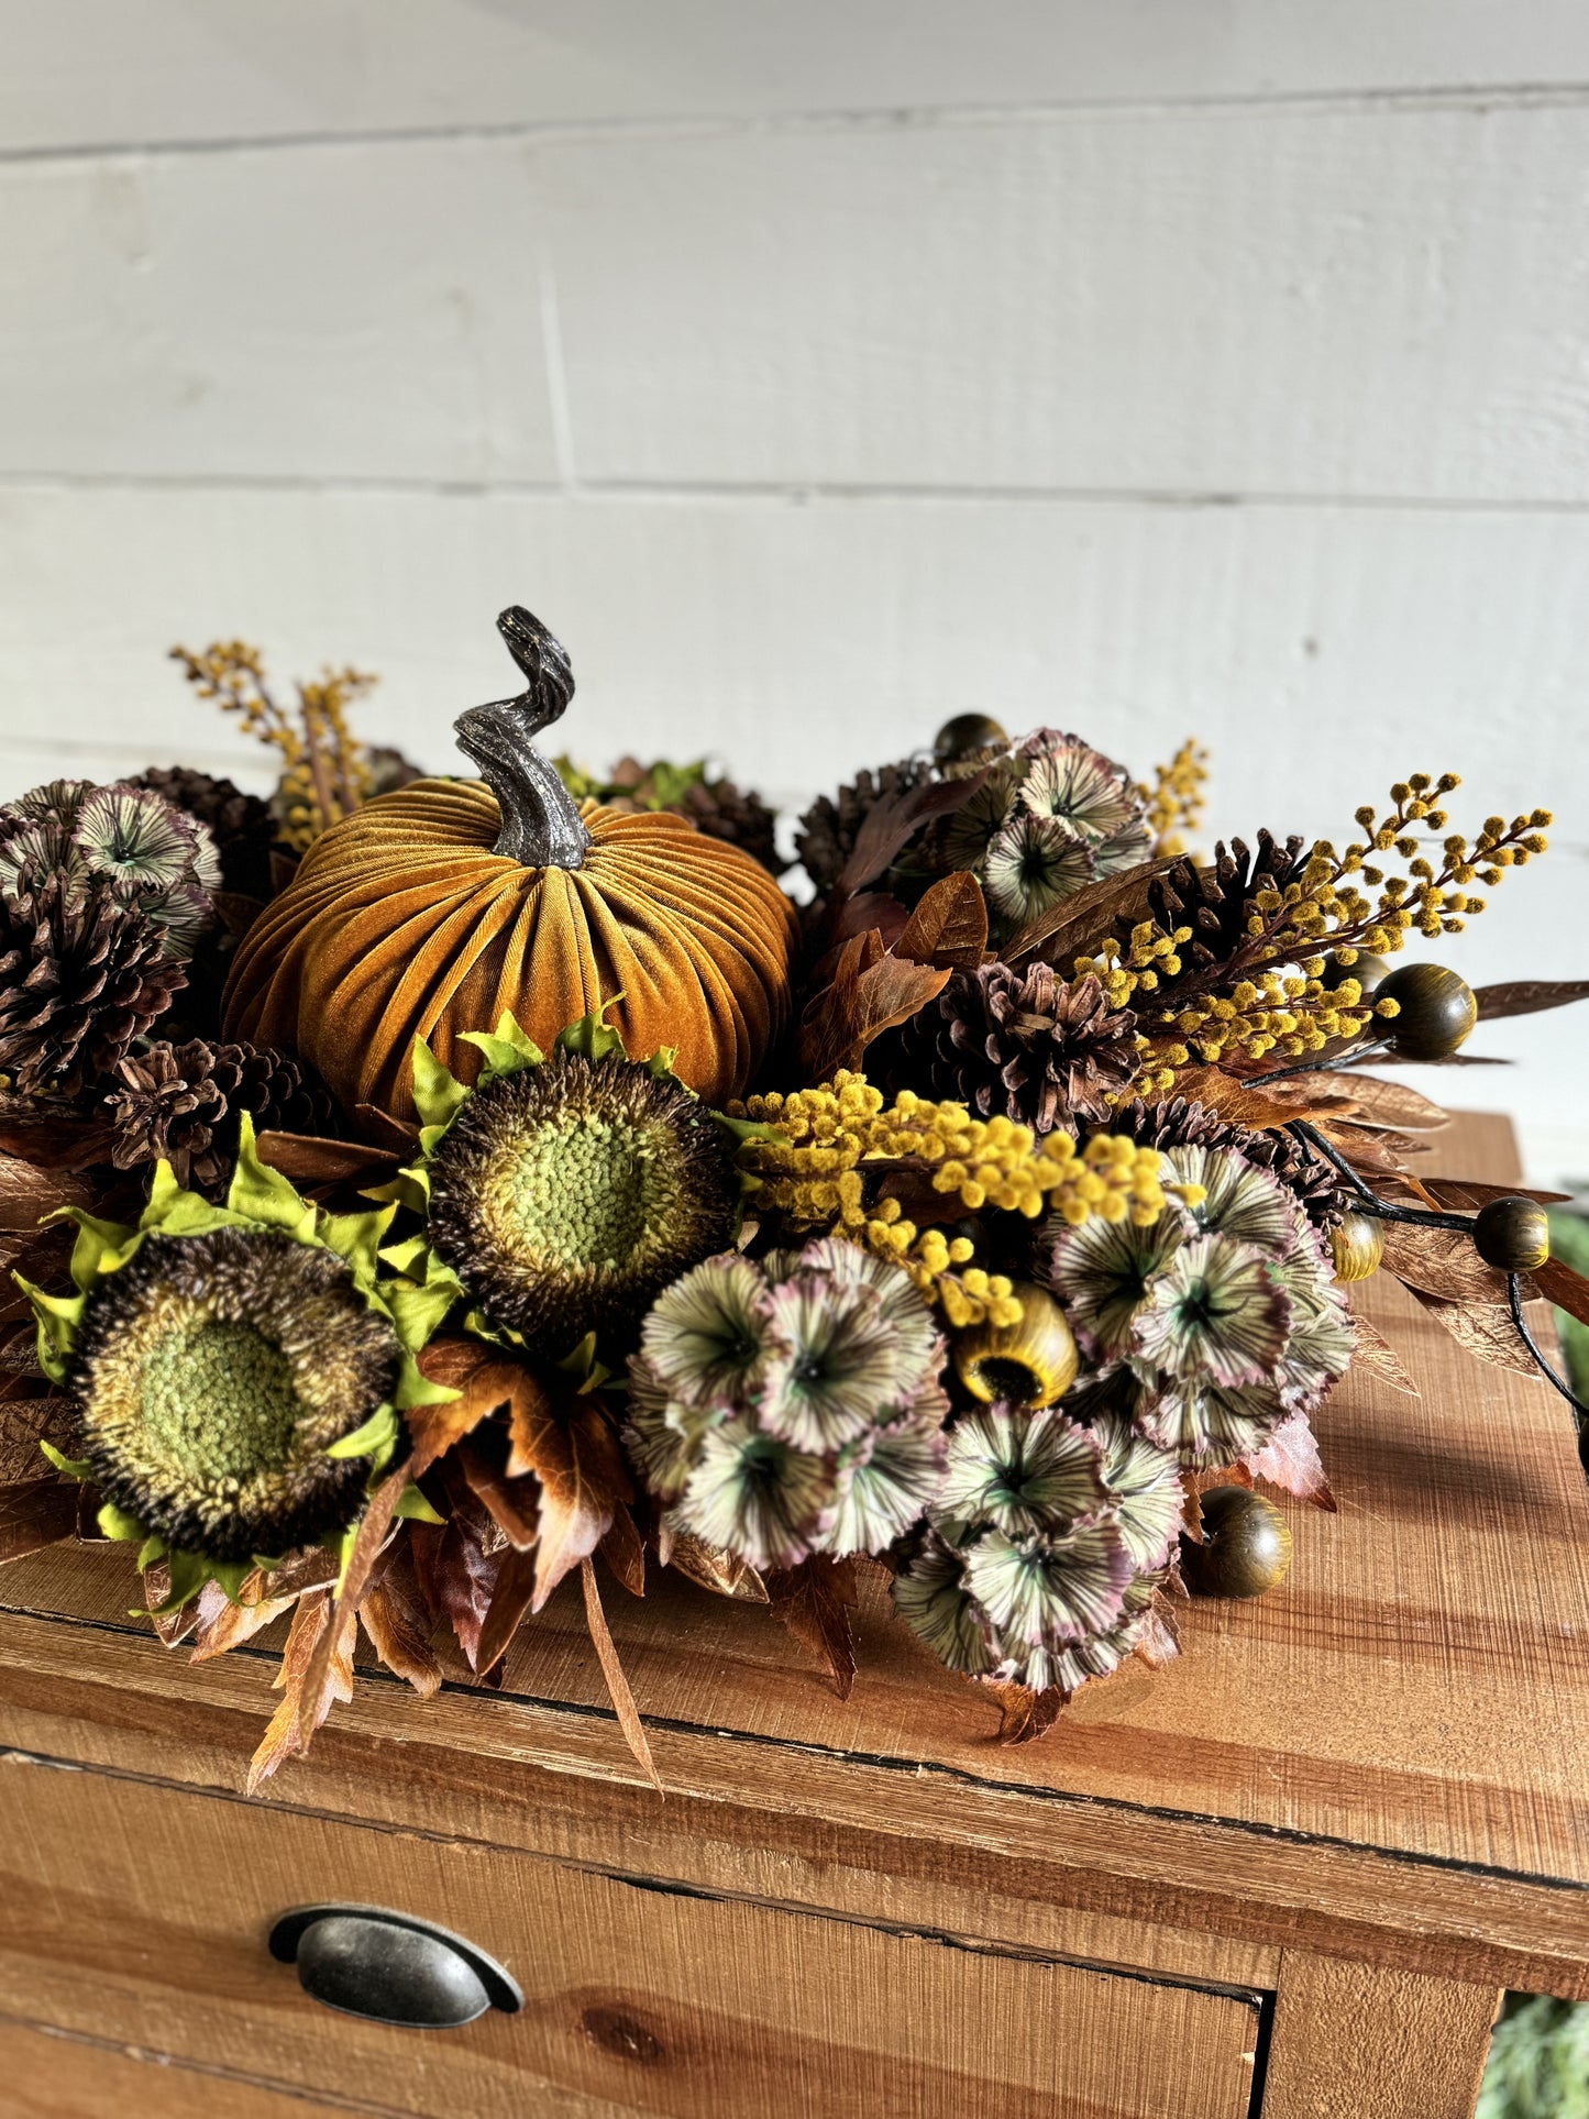
[[[0,172],[6,470],[544,479],[513,150]]]

